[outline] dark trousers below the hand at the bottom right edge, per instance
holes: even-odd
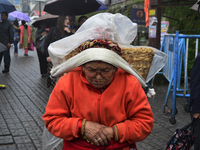
[[[200,150],[200,118],[194,121],[194,150]]]

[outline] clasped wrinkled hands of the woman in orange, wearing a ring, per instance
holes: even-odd
[[[107,127],[96,122],[86,121],[85,136],[91,144],[105,146],[113,138],[113,129],[112,127]]]

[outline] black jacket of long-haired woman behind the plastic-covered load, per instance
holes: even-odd
[[[65,32],[65,37],[72,35],[73,33]],[[46,57],[49,57],[48,47],[51,43],[62,39],[60,31],[56,27],[51,27],[47,37],[45,38],[44,49],[46,51]]]

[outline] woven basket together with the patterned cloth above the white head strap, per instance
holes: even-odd
[[[65,59],[67,60],[88,48],[106,48],[116,52],[123,59],[125,59],[130,66],[135,69],[144,79],[147,78],[155,53],[154,50],[149,47],[120,48],[117,43],[112,42],[111,40],[95,39],[84,42],[74,51],[65,56]]]

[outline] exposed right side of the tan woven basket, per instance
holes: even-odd
[[[147,47],[121,48],[122,55],[133,69],[135,69],[145,80],[147,78],[151,62],[154,57],[154,50]]]

